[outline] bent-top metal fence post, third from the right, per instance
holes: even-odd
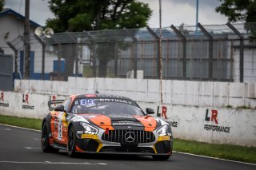
[[[182,77],[183,79],[186,79],[186,37],[174,25],[171,25],[170,28],[174,30],[175,34],[177,34],[179,38],[182,38]]]

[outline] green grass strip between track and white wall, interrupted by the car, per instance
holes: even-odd
[[[0,115],[0,123],[40,130],[42,120]],[[208,144],[192,140],[174,139],[174,150],[177,152],[188,152],[202,156],[212,156],[256,164],[255,147],[242,147],[231,144]]]

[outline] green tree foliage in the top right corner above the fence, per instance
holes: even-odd
[[[226,15],[230,22],[246,22],[245,29],[250,30],[252,41],[256,41],[256,1],[255,0],[219,0],[216,11]]]

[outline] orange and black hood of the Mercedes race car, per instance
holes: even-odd
[[[99,115],[82,114],[90,123],[101,128],[119,129],[119,128],[139,128],[146,131],[154,131],[158,128],[160,122],[151,116],[130,116],[130,115]]]

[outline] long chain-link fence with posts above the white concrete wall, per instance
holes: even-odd
[[[127,77],[198,81],[256,81],[256,23],[150,27],[136,30],[30,35],[8,42],[22,77],[30,43],[30,79]],[[252,34],[253,33],[253,34]],[[254,35],[255,36],[255,35]],[[162,72],[160,71],[162,69]]]

